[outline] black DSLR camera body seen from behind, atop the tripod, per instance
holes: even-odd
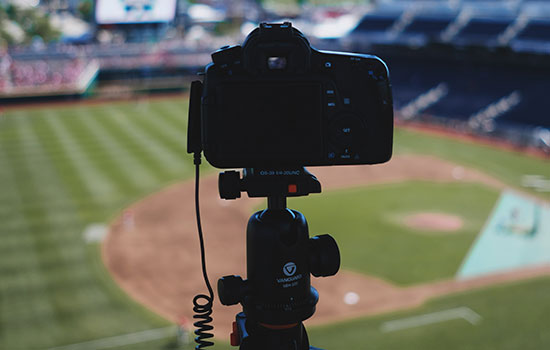
[[[285,169],[391,158],[391,85],[378,57],[318,51],[285,22],[262,23],[242,47],[223,47],[212,61],[200,138],[213,166]]]

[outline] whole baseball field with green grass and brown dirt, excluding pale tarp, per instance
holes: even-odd
[[[186,119],[185,96],[2,112],[0,349],[177,348],[174,321],[204,292]],[[312,170],[323,194],[289,202],[342,252],[339,276],[312,279],[312,344],[549,348],[546,267],[455,275],[503,190],[550,200],[523,186],[550,160],[404,128],[394,143],[386,166]],[[243,220],[263,205],[216,199],[215,173],[203,166],[213,281],[243,273]],[[216,349],[235,312],[215,305]]]

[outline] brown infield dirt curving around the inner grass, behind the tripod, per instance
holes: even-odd
[[[407,180],[476,182],[505,185],[481,172],[430,156],[395,156],[375,166],[310,168],[324,189],[339,189]],[[103,260],[118,284],[136,301],[178,322],[192,318],[192,299],[206,288],[200,268],[194,212],[194,182],[170,186],[135,203],[110,227],[102,246]],[[206,235],[207,268],[214,283],[224,275],[245,273],[245,229],[261,200],[219,199],[217,176],[201,179],[201,213]],[[341,270],[336,276],[312,279],[319,290],[317,311],[307,324],[410,308],[452,292],[550,273],[550,267],[514,271],[468,280],[445,280],[406,288],[379,278]],[[356,304],[344,296],[357,293]],[[214,303],[214,333],[227,339],[240,306]]]

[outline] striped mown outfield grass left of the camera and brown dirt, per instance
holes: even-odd
[[[0,122],[0,349],[43,349],[168,323],[114,284],[90,223],[188,178],[186,102],[36,108]]]

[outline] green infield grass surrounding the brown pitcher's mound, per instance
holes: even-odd
[[[306,216],[311,234],[333,235],[344,268],[406,285],[454,276],[497,198],[477,184],[405,182],[295,198],[289,206]],[[464,225],[426,234],[402,224],[419,212],[457,215]]]

